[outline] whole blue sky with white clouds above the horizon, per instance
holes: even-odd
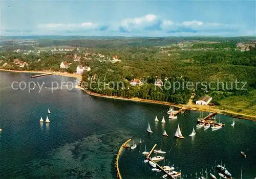
[[[1,35],[255,36],[255,1],[1,0]]]

